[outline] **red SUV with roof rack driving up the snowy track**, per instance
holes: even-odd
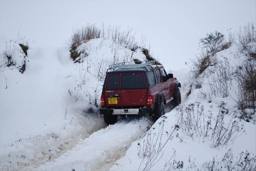
[[[164,105],[169,101],[180,104],[179,87],[173,74],[167,74],[155,61],[110,65],[101,94],[100,113],[107,124],[114,124],[117,116],[125,115],[150,114],[157,120],[165,114]]]

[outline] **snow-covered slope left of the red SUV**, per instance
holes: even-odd
[[[17,47],[14,61],[21,52],[18,42],[10,44]],[[145,58],[141,51],[132,52],[106,39],[92,39],[79,47],[88,52],[86,61],[74,64],[65,46],[31,44],[26,70],[21,74],[16,66],[4,65],[4,44],[1,40],[1,170],[38,166],[106,127],[94,104],[96,100],[100,105],[108,65],[113,64],[114,57],[116,62],[124,57],[132,60],[132,53],[136,59]]]

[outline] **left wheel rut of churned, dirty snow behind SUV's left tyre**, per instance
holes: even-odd
[[[78,144],[79,139],[88,138],[92,133],[107,127],[103,118],[95,116],[95,114],[87,114],[79,119],[81,120],[75,122],[74,125],[66,125],[68,126],[67,131],[63,130],[66,134],[52,132],[44,136],[38,135],[23,139],[20,142],[22,144],[14,146],[13,151],[9,152],[9,156],[8,153],[1,154],[0,170],[34,170],[34,168],[53,161],[72,149]],[[16,157],[11,160],[10,156]],[[20,159],[20,156],[24,156],[24,158]]]

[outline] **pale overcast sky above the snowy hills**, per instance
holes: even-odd
[[[146,36],[162,63],[182,68],[197,53],[199,39],[215,30],[227,35],[256,22],[256,1],[0,1],[0,38],[18,31],[36,46],[65,44],[73,28],[121,26]]]

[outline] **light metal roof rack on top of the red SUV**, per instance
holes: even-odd
[[[143,64],[136,64],[137,63],[142,63],[141,61],[130,61],[130,62],[122,62],[122,63],[117,63],[113,65],[109,65],[109,69],[115,69],[115,68],[140,68],[140,67],[145,67],[148,65],[155,64],[155,61],[144,61],[145,63]]]

